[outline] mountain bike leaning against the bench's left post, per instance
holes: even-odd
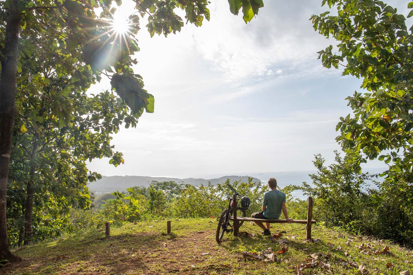
[[[240,195],[240,193],[238,193],[237,190],[235,190],[235,188],[233,188],[230,184],[227,184],[227,185],[231,190],[234,191],[235,195],[242,197],[242,195]],[[219,221],[218,221],[218,228],[216,228],[216,242],[218,243],[221,242],[222,237],[225,232],[234,231],[232,221],[230,220],[230,217],[234,213],[234,207],[233,207],[234,201],[232,197],[229,197],[228,201],[229,201],[228,209],[223,210],[221,217],[219,218]],[[237,207],[237,216],[245,217],[245,210],[242,207]],[[244,223],[244,221],[238,221],[237,226],[240,227],[242,223]]]

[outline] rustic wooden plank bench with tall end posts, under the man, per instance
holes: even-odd
[[[249,218],[249,217],[237,217],[237,195],[234,195],[233,197],[234,200],[234,214],[233,216],[230,217],[230,220],[234,221],[234,236],[238,235],[238,230],[240,228],[239,226],[239,221],[260,221],[262,223],[287,223],[287,220],[267,220],[267,219],[255,219],[255,218]],[[306,220],[294,220],[292,223],[302,223],[302,224],[307,224],[307,240],[311,240],[311,224],[316,223],[313,218],[313,197],[309,197],[309,207],[307,211],[307,219]]]

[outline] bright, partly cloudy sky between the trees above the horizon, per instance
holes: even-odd
[[[387,1],[408,14],[409,1]],[[121,12],[132,11],[123,1]],[[210,21],[185,25],[176,35],[150,38],[141,20],[135,73],[155,97],[154,113],[136,128],[113,135],[124,165],[93,160],[104,176],[247,175],[252,172],[315,170],[320,153],[333,162],[345,98],[361,80],[326,69],[317,52],[335,40],[314,31],[309,18],[328,7],[321,0],[264,0],[251,22],[211,0]],[[332,11],[334,12],[334,11]],[[240,12],[241,14],[241,12]],[[110,89],[109,79],[90,88]],[[371,161],[365,169],[385,167]]]

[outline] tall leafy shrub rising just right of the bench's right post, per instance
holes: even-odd
[[[315,155],[313,161],[318,172],[311,174],[312,183],[301,186],[290,185],[287,190],[300,190],[314,198],[316,219],[325,221],[328,226],[345,226],[362,220],[361,207],[368,200],[366,181],[372,176],[361,173],[352,155],[342,157],[335,151],[335,163],[325,166],[325,159]]]

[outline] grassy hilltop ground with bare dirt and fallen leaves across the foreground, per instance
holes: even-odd
[[[389,241],[351,236],[323,226],[313,226],[313,241],[306,241],[305,230],[297,230],[302,229],[297,224],[275,224],[272,233],[287,233],[263,237],[254,234],[257,226],[244,223],[240,237],[226,233],[217,244],[216,225],[215,219],[172,220],[171,235],[166,235],[166,221],[112,226],[110,237],[105,237],[102,229],[19,249],[15,252],[24,261],[6,264],[0,274],[413,273],[413,251]],[[275,252],[274,262],[263,261],[267,257],[261,251],[268,248]]]

